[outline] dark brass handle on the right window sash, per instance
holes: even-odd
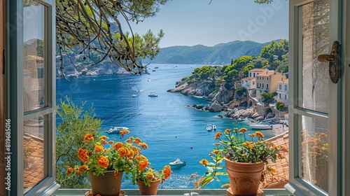
[[[329,62],[329,76],[333,83],[337,83],[340,77],[339,66],[340,66],[340,44],[335,41],[332,45],[332,51],[330,55],[318,55],[319,62]]]

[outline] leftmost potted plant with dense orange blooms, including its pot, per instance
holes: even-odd
[[[123,173],[132,174],[141,149],[148,148],[141,139],[130,137],[123,141],[129,130],[120,131],[121,141],[109,137],[87,134],[83,146],[78,149],[79,165],[69,167],[66,174],[89,173],[93,195],[119,195]]]

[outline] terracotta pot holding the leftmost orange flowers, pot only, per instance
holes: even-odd
[[[118,178],[114,175],[114,171],[104,172],[102,176],[94,176],[90,174],[90,183],[93,195],[118,196],[120,186],[122,184],[123,172],[118,173]]]

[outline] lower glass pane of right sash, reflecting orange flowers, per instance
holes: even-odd
[[[328,122],[302,116],[302,177],[328,191]]]

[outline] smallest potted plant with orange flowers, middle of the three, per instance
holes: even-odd
[[[172,175],[172,169],[166,165],[164,169],[157,171],[153,167],[144,168],[141,163],[134,168],[133,173],[132,183],[137,183],[140,195],[157,195],[159,184]]]

